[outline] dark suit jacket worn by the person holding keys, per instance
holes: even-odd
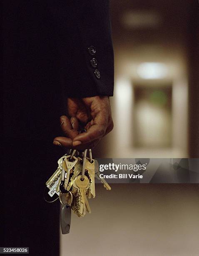
[[[5,137],[53,138],[67,97],[113,95],[107,0],[8,0],[3,21]]]

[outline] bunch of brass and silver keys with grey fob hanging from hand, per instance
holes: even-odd
[[[86,212],[91,213],[88,199],[95,198],[95,178],[99,179],[107,190],[111,190],[105,179],[100,177],[99,164],[97,160],[92,159],[91,149],[85,149],[83,152],[71,149],[69,154],[58,160],[57,170],[46,182],[49,191],[45,200],[55,202],[60,199],[62,234],[70,232],[71,209],[79,217],[85,216]]]

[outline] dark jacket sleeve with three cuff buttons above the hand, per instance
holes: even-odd
[[[57,31],[63,95],[112,96],[114,55],[109,1],[57,1],[51,13]]]

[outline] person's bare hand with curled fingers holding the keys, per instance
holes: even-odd
[[[94,148],[100,139],[113,129],[109,97],[68,98],[70,119],[60,117],[61,128],[66,137],[56,137],[57,146],[84,150]],[[86,132],[79,134],[80,129]]]

